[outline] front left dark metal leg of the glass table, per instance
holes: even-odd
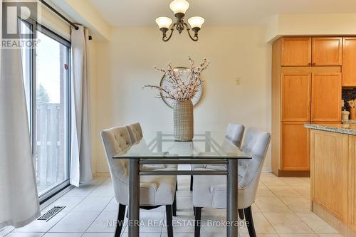
[[[140,236],[140,159],[130,159],[129,167],[129,237]]]

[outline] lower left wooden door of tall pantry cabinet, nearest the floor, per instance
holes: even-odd
[[[308,171],[309,131],[304,127],[308,122],[282,122],[282,171]]]

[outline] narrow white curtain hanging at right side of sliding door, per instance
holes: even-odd
[[[88,29],[72,28],[72,144],[70,184],[79,186],[93,179],[90,146]]]

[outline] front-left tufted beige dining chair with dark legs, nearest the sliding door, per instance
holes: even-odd
[[[129,161],[113,159],[115,154],[125,153],[130,149],[131,139],[127,127],[113,127],[101,132],[106,157],[110,169],[115,199],[119,203],[119,214],[115,236],[120,236],[129,201]],[[165,168],[172,170],[171,168]],[[177,209],[175,201],[176,176],[142,176],[140,177],[140,208],[155,209],[166,206],[167,232],[173,236],[172,209]]]

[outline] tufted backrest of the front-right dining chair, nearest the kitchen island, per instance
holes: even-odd
[[[258,182],[261,177],[263,162],[266,158],[270,141],[271,135],[268,132],[253,128],[246,131],[244,144],[241,149],[246,154],[251,155],[252,159],[246,161],[245,167],[241,167],[239,164],[239,169],[245,169],[242,171],[244,174],[242,175],[239,185],[245,189],[250,189],[248,192],[250,193],[251,201],[256,199]],[[239,174],[241,174],[240,170]]]

